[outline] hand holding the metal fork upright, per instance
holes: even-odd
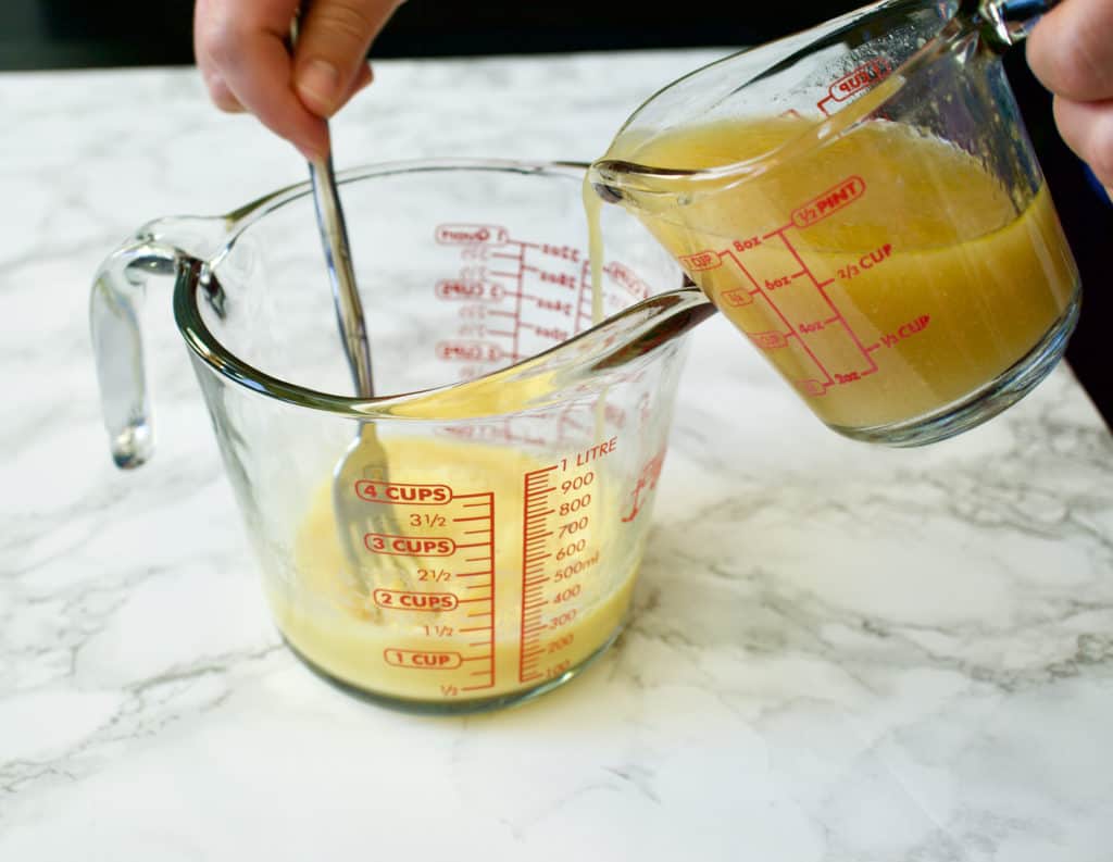
[[[367,49],[403,0],[197,0],[194,50],[209,97],[254,114],[309,159],[328,154],[325,120],[372,80]]]

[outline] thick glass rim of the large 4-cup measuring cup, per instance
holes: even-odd
[[[345,185],[385,175],[459,170],[551,175],[563,176],[570,179],[582,179],[587,174],[588,167],[587,163],[580,161],[528,161],[496,158],[406,159],[347,168],[336,174],[336,182],[338,185]],[[230,352],[205,324],[198,302],[203,301],[205,296],[213,296],[218,287],[214,270],[235,246],[237,238],[245,229],[267,214],[303,197],[308,197],[312,194],[312,183],[305,180],[278,189],[220,217],[219,221],[226,226],[225,239],[220,247],[209,259],[198,259],[191,256],[185,256],[179,259],[177,282],[174,290],[175,321],[183,339],[185,339],[186,344],[195,355],[204,361],[209,369],[227,380],[253,392],[268,395],[296,406],[323,410],[355,419],[388,417],[391,419],[420,419],[425,421],[460,420],[463,417],[460,415],[459,409],[452,409],[456,400],[445,399],[442,408],[443,412],[439,412],[436,409],[437,396],[444,396],[446,393],[456,393],[465,386],[473,386],[475,384],[510,383],[515,379],[529,375],[534,370],[539,372],[553,370],[550,368],[550,363],[553,354],[558,352],[568,353],[570,359],[563,365],[559,364],[556,370],[578,368],[582,369],[584,374],[590,374],[599,369],[618,366],[631,359],[653,352],[657,345],[671,341],[673,336],[681,334],[690,326],[713,313],[713,306],[710,305],[710,302],[698,287],[679,287],[673,291],[663,291],[647,300],[634,303],[567,341],[554,344],[545,351],[471,381],[446,383],[440,386],[370,399],[338,395],[302,386],[267,374]],[[210,304],[218,303],[210,302]],[[688,312],[688,314],[683,312]],[[666,322],[674,321],[674,325],[666,327],[669,331],[663,333],[660,332],[661,326],[654,325],[654,323],[659,322],[662,314],[667,315]],[[644,330],[651,341],[646,350],[631,351],[631,339],[638,337],[639,330]],[[608,339],[607,333],[610,331],[614,331],[614,333],[624,331],[627,337]],[[592,340],[599,340],[600,346],[598,349],[577,350],[578,346],[582,347]],[[407,410],[407,408],[418,404],[424,409]],[[541,404],[526,403],[525,401],[520,405],[501,403],[498,410],[491,410],[486,413],[475,413],[469,418],[518,412],[518,410],[538,406],[541,406]]]

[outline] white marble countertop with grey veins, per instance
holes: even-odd
[[[720,53],[380,62],[337,161],[590,159]],[[522,708],[396,714],[280,645],[168,292],[158,454],[117,472],[100,423],[100,259],[298,157],[190,69],[0,76],[0,859],[1110,859],[1113,438],[1065,366],[883,450],[711,320],[615,648]]]

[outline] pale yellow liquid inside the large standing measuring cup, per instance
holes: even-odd
[[[361,490],[362,574],[343,550],[326,477],[296,538],[295,574],[268,580],[299,653],[371,693],[449,703],[560,678],[614,637],[640,548],[629,547],[598,460],[383,443],[391,482]],[[377,528],[387,507],[390,533]]]

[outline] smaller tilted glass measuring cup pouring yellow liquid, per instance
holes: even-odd
[[[728,57],[642,105],[591,183],[830,428],[951,437],[1035,386],[1077,319],[999,61],[1046,6],[880,2]]]

